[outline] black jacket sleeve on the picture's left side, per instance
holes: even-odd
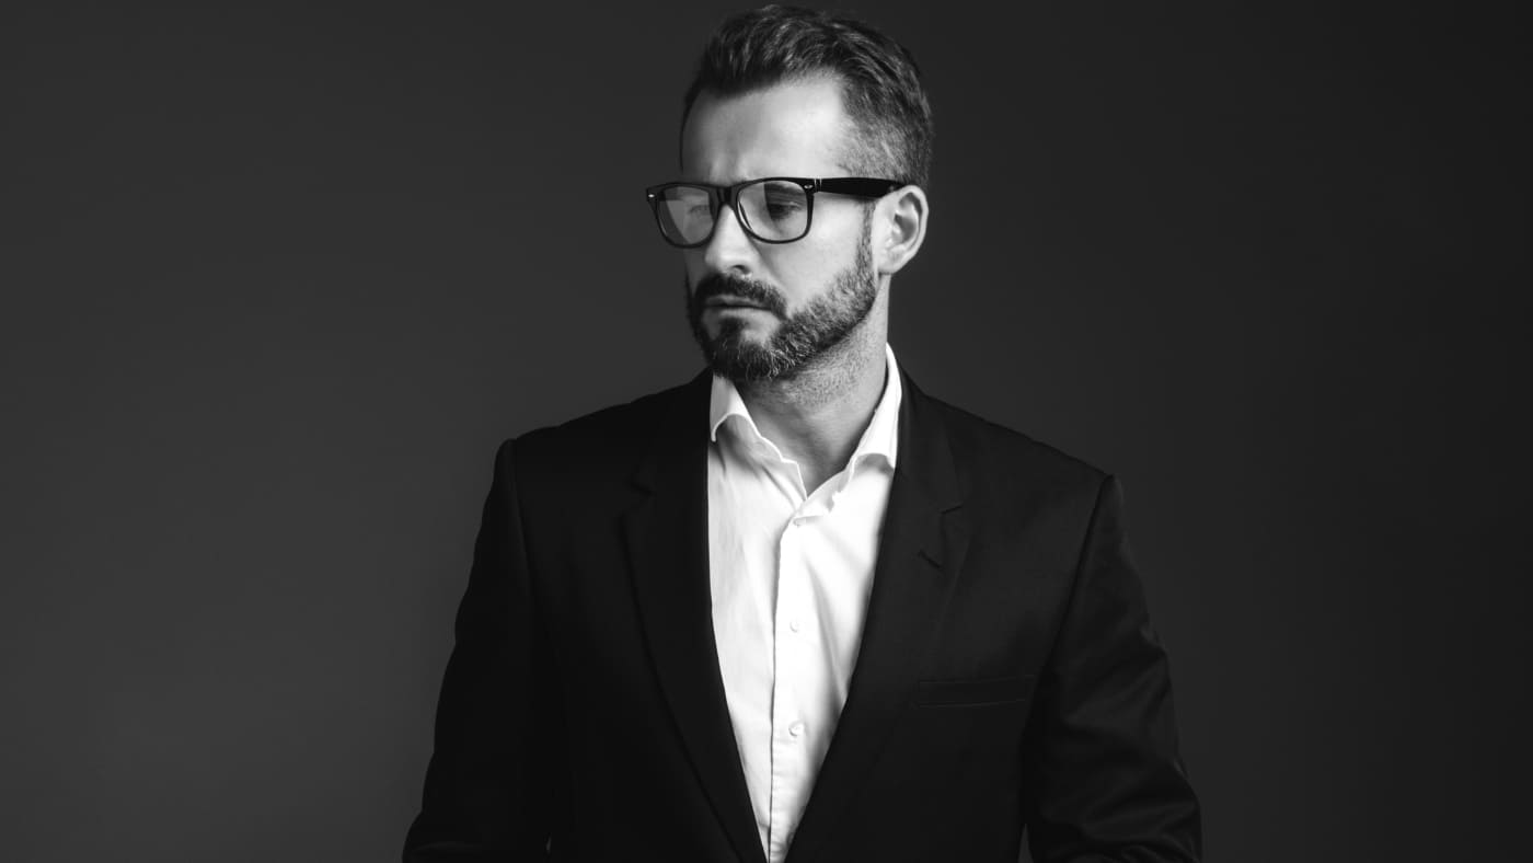
[[[512,446],[495,457],[406,863],[547,858],[563,745]]]

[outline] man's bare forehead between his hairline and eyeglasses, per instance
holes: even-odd
[[[704,90],[682,129],[682,172],[713,182],[837,173],[851,132],[840,81],[831,75],[730,95]]]

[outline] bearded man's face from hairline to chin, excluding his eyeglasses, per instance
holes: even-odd
[[[852,133],[832,78],[737,97],[702,94],[682,130],[682,179],[731,185],[763,176],[846,176]],[[731,380],[791,376],[840,343],[878,296],[871,219],[858,201],[817,195],[808,236],[753,239],[731,210],[713,236],[682,250],[693,336]]]

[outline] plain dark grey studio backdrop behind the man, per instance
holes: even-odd
[[[641,189],[734,6],[213,6],[0,12],[6,860],[396,858],[495,445],[698,366]],[[1510,858],[1528,34],[1233,6],[865,5],[892,340],[1124,478],[1211,860]]]

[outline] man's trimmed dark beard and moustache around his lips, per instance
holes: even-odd
[[[734,383],[793,377],[806,363],[846,340],[868,319],[878,299],[869,241],[871,230],[865,228],[852,265],[837,273],[829,290],[794,314],[788,314],[788,302],[776,288],[754,279],[714,273],[698,282],[696,291],[687,291],[687,320],[713,374]],[[766,342],[748,339],[745,325],[734,317],[724,317],[719,333],[710,336],[702,325],[702,314],[707,300],[717,296],[756,304],[780,323]]]

